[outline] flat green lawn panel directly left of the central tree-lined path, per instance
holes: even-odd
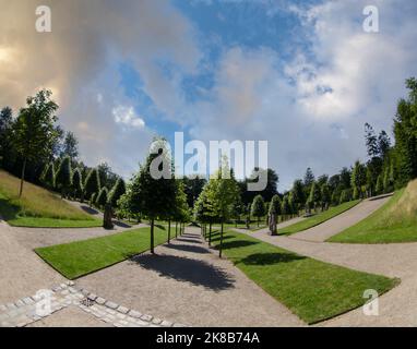
[[[75,279],[147,251],[150,229],[132,229],[106,237],[40,248],[35,252],[64,277]],[[155,228],[155,245],[166,240],[166,230]]]

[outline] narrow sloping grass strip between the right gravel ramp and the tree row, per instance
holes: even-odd
[[[306,219],[303,219],[299,222],[296,222],[294,225],[290,225],[288,227],[278,229],[278,234],[290,236],[293,233],[315,227],[315,226],[344,213],[345,210],[350,209],[352,207],[356,206],[359,202],[360,202],[360,200],[355,200],[355,201],[350,201],[347,203],[343,203],[338,206],[330,207],[327,210],[324,210],[318,215],[306,218]]]

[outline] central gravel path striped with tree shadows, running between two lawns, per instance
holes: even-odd
[[[124,306],[192,326],[302,326],[287,308],[227,260],[211,253],[200,229],[76,281]]]

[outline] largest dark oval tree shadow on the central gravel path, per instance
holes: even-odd
[[[141,267],[154,270],[162,277],[190,282],[214,291],[234,287],[235,279],[223,268],[204,261],[172,255],[136,255],[130,260]]]

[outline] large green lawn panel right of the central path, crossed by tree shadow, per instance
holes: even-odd
[[[362,305],[366,289],[381,294],[398,282],[300,256],[235,231],[228,231],[225,238],[224,254],[309,324]],[[218,240],[217,236],[214,244],[218,245]]]

